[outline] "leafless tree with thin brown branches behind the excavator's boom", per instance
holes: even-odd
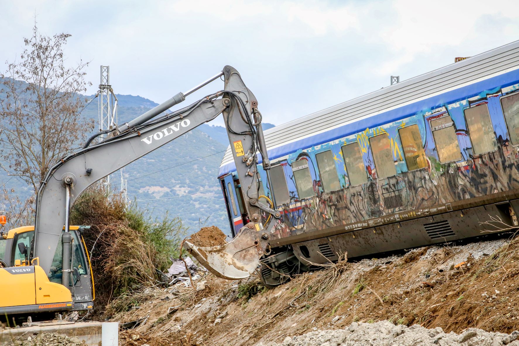
[[[0,74],[0,167],[36,192],[54,163],[72,153],[92,131],[84,119],[85,68],[80,61],[65,66],[70,34],[41,34],[36,24],[19,60],[7,62]]]

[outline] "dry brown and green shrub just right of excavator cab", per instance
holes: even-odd
[[[127,207],[119,193],[110,197],[100,185],[74,203],[71,224],[90,225],[83,233],[95,283],[95,312],[113,297],[159,283],[156,270],[178,255],[185,228],[179,218],[153,220],[136,203]]]

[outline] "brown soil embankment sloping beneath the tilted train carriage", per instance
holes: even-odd
[[[518,262],[519,238],[515,238],[422,247],[403,256],[359,262],[342,260],[272,290],[262,290],[257,277],[226,281],[207,274],[201,279],[207,281],[206,288],[191,290],[170,314],[168,297],[174,287],[162,289],[141,302],[139,309],[113,319],[128,322],[148,317],[145,324],[124,332],[128,337],[121,344],[132,346],[313,345],[318,343],[297,340],[310,340],[307,333],[349,330],[353,322],[358,323],[357,333],[370,326],[379,330],[380,335],[371,338],[382,340],[386,333],[395,332],[396,339],[386,344],[412,344],[400,335],[419,339],[420,330],[429,335],[420,339],[424,344],[434,338],[440,345],[483,345],[490,339],[497,341],[489,345],[507,340],[515,344],[518,341],[512,338],[484,331],[511,334],[519,329]],[[399,334],[393,329],[404,331]],[[438,338],[451,331],[461,335],[456,336],[457,343],[448,343],[447,336]],[[345,343],[345,338],[343,344],[371,344],[363,343],[362,335],[356,337],[354,331],[348,335],[357,343]],[[418,339],[415,344],[420,344]],[[332,345],[334,340],[321,343]]]

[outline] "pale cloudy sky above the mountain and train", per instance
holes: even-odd
[[[517,1],[3,0],[0,12],[1,70],[36,20],[72,34],[67,63],[89,62],[89,94],[100,65],[116,93],[158,103],[232,65],[277,125],[519,39]]]

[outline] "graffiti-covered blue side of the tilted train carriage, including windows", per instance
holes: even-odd
[[[273,165],[284,165],[290,202],[279,206],[282,216],[275,221],[272,238],[336,226],[367,227],[368,219],[519,188],[519,152],[509,139],[500,103],[518,86],[486,90],[471,98],[403,114],[398,121],[273,160]],[[374,140],[379,135],[381,138]],[[350,144],[358,148],[344,151]],[[491,150],[477,152],[484,148]],[[351,167],[347,167],[346,152],[359,153],[358,161],[349,161]],[[383,162],[384,157],[387,160]],[[301,159],[308,165],[304,171],[299,169],[301,165],[294,170],[294,162]],[[356,179],[353,168],[358,172]],[[266,182],[261,166],[258,170]],[[387,172],[391,175],[381,176]],[[352,184],[359,179],[360,184]],[[311,196],[300,197],[310,186]],[[330,186],[335,189],[327,191]]]

